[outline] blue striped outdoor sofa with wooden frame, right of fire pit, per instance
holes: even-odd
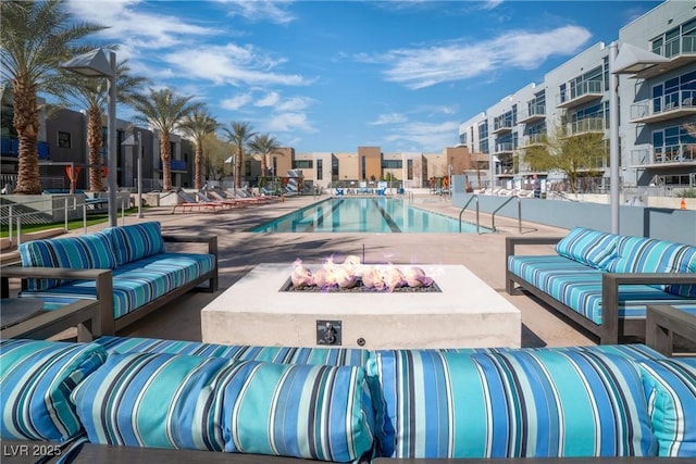
[[[530,254],[555,244],[556,254]],[[566,237],[507,237],[506,290],[524,290],[597,336],[645,336],[646,306],[696,314],[696,246],[575,227]]]

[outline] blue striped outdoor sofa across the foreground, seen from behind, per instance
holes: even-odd
[[[696,358],[643,344],[0,340],[0,366],[3,449],[64,462],[696,456]]]

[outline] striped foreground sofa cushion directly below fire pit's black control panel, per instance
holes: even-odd
[[[225,391],[225,451],[357,462],[372,449],[364,369],[259,363]]]

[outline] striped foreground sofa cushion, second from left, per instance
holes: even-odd
[[[110,354],[71,398],[92,443],[222,451],[222,385],[244,384],[249,367],[220,358]]]

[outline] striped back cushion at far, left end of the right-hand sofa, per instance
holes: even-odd
[[[556,252],[601,269],[616,258],[618,239],[614,234],[575,227],[556,244]]]

